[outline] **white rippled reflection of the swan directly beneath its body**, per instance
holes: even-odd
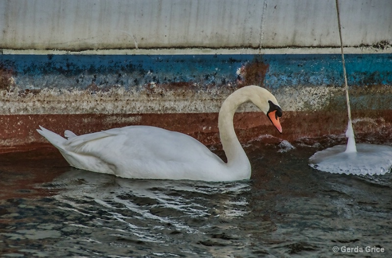
[[[164,246],[158,253],[165,254],[164,249],[171,245],[173,253],[167,254],[171,256],[181,253],[184,235],[192,236],[196,245],[219,244],[220,236],[224,238],[224,231],[231,228],[224,225],[226,221],[247,213],[247,182],[129,180],[74,170],[45,186],[64,185],[67,191],[54,196],[63,204],[59,208],[84,217],[72,226],[102,227],[105,230],[99,238],[105,242],[110,239],[110,243],[120,243],[129,250],[137,243],[142,250],[154,252]],[[213,230],[211,223],[217,224]],[[209,243],[205,234],[217,240]]]

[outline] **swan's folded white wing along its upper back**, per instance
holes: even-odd
[[[121,152],[128,158],[189,160],[190,157],[217,156],[195,138],[175,131],[149,126],[129,126],[70,138],[67,150],[111,155]],[[200,154],[203,153],[203,154]]]

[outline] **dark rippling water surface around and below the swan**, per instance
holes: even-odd
[[[251,180],[229,183],[123,179],[70,168],[44,149],[1,154],[0,257],[392,254],[390,173],[310,168],[331,139],[265,140],[246,145]]]

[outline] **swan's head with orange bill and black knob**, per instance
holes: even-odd
[[[272,125],[274,125],[274,127],[282,133],[282,126],[280,125],[279,117],[282,116],[283,112],[275,96],[267,89],[259,86],[252,87],[252,90],[255,90],[257,94],[253,94],[250,97],[251,102],[260,108],[260,110],[268,116]]]

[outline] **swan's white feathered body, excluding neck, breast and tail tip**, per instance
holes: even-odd
[[[226,164],[199,141],[156,127],[128,126],[72,136],[63,149],[63,156],[76,168],[128,178],[210,181],[216,175],[219,181],[228,176]]]

